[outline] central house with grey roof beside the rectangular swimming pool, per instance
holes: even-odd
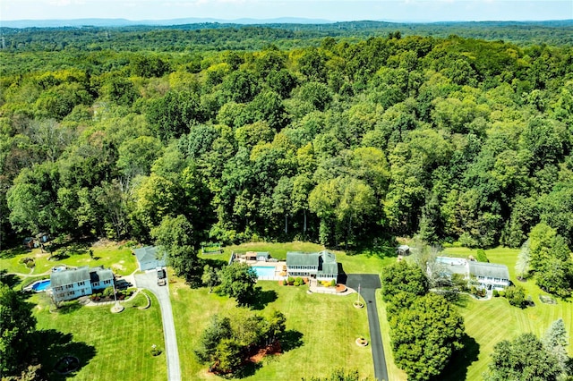
[[[286,273],[288,276],[306,276],[321,281],[335,281],[338,278],[336,256],[328,250],[317,253],[288,251],[286,253]]]

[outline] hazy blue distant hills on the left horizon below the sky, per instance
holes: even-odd
[[[64,27],[129,27],[136,25],[149,26],[172,26],[185,24],[238,24],[238,25],[261,25],[261,24],[326,24],[333,21],[321,19],[301,19],[295,17],[281,17],[278,19],[237,19],[222,20],[210,18],[185,18],[170,20],[127,20],[127,19],[74,19],[74,20],[16,20],[0,21],[0,27],[5,28],[64,28]]]

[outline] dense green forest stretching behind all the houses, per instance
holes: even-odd
[[[126,33],[115,48],[75,48],[92,32],[106,33],[4,30],[3,241],[149,241],[164,218],[185,216],[196,241],[419,234],[518,247],[543,224],[573,242],[570,45],[390,32],[198,52],[166,38],[185,30],[128,29],[111,33]],[[58,33],[57,52],[11,42]],[[148,47],[160,36],[162,51],[139,49],[134,33]]]

